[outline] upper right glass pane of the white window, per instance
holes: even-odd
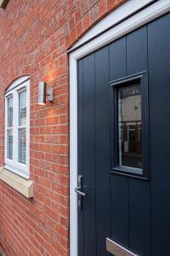
[[[19,94],[19,125],[26,126],[26,90]]]

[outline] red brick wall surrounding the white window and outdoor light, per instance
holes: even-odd
[[[9,0],[0,10],[0,166],[4,90],[31,77],[31,180],[27,200],[0,182],[0,246],[8,256],[69,255],[68,56],[84,32],[124,0]],[[39,81],[54,102],[37,105]]]

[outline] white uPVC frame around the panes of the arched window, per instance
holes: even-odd
[[[19,95],[26,90],[26,165],[19,162]],[[13,160],[8,154],[8,99],[13,97]],[[25,127],[24,127],[25,128]],[[30,79],[22,77],[14,81],[5,92],[5,148],[4,167],[21,177],[30,177]]]

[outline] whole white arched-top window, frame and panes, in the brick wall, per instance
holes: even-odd
[[[5,93],[5,167],[29,177],[30,80],[16,80]]]

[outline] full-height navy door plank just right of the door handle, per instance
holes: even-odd
[[[94,54],[83,59],[84,256],[96,255]]]

